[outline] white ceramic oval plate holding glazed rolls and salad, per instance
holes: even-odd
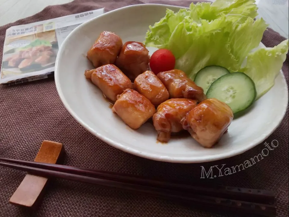
[[[92,68],[86,52],[102,31],[115,32],[123,42],[143,42],[149,25],[158,22],[166,8],[179,10],[169,5],[128,6],[96,17],[70,33],[58,52],[55,66],[57,91],[67,110],[83,127],[109,145],[158,161],[214,161],[241,154],[261,143],[278,127],[288,105],[287,84],[281,71],[275,86],[245,115],[233,120],[228,133],[211,149],[203,148],[191,137],[172,139],[166,145],[157,143],[157,133],[150,123],[132,130],[112,113],[101,91],[85,79],[85,69]],[[156,50],[148,49],[150,55]]]

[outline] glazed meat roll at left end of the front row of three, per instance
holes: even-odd
[[[149,118],[156,109],[143,95],[132,89],[126,89],[112,107],[112,111],[132,129],[138,129]]]

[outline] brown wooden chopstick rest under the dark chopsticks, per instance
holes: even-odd
[[[44,140],[34,161],[55,164],[63,154],[61,143]],[[47,182],[48,178],[27,174],[9,202],[15,206],[35,207],[42,199]]]

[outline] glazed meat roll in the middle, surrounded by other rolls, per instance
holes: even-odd
[[[145,71],[138,75],[134,81],[134,88],[155,106],[169,99],[166,87],[152,71]]]

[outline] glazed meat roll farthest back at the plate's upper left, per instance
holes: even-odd
[[[115,33],[104,31],[87,52],[87,58],[95,68],[114,64],[123,42]]]

